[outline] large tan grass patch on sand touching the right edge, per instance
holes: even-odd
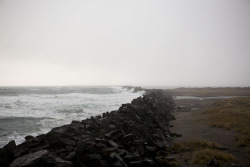
[[[250,146],[250,97],[237,97],[218,101],[204,112],[212,127],[232,129],[239,147]]]

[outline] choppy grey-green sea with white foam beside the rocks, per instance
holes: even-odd
[[[0,87],[0,147],[117,110],[143,93],[122,87]]]

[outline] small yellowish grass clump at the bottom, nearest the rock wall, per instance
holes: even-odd
[[[175,142],[171,149],[176,153],[190,152],[192,154],[192,164],[204,165],[216,159],[220,165],[223,165],[226,162],[234,162],[236,160],[221,145],[206,140]]]

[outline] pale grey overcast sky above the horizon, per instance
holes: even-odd
[[[250,86],[250,1],[0,0],[0,85]]]

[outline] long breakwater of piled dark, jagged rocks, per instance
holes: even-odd
[[[119,110],[72,121],[16,146],[0,149],[1,167],[171,166],[168,122],[174,102],[164,90],[147,90]]]

